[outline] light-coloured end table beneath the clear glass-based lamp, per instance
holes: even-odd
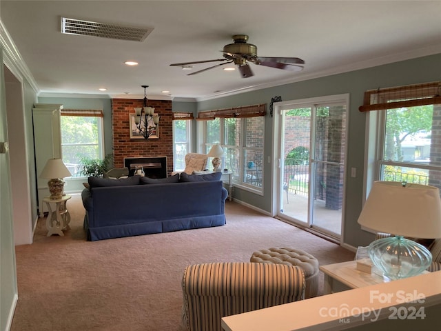
[[[320,266],[320,271],[325,274],[323,291],[325,294],[362,288],[390,281],[375,272],[368,273],[357,270],[356,261],[347,261]]]

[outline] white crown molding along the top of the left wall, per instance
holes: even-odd
[[[39,87],[35,81],[28,66],[26,66],[23,57],[15,46],[8,30],[3,25],[3,21],[0,19],[0,45],[3,48],[3,63],[11,70],[11,72],[21,81],[25,79],[34,90],[35,94],[39,94]]]

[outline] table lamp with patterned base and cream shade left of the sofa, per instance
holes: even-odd
[[[61,197],[63,197],[63,178],[70,176],[72,176],[72,174],[61,159],[48,159],[48,162],[46,162],[40,174],[40,178],[49,179],[50,199],[61,199]]]

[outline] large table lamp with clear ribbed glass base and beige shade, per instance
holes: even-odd
[[[373,265],[389,279],[416,276],[429,267],[432,255],[414,239],[441,237],[441,200],[429,185],[376,181],[358,223],[395,237],[373,241],[368,248]]]

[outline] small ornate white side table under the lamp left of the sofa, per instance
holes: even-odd
[[[59,234],[63,237],[63,230],[70,230],[70,214],[66,208],[66,202],[70,199],[70,195],[65,194],[61,199],[50,199],[45,197],[43,202],[48,207],[48,218],[46,219],[46,228],[48,228],[48,237],[52,234]],[[52,210],[54,205],[54,210]]]

